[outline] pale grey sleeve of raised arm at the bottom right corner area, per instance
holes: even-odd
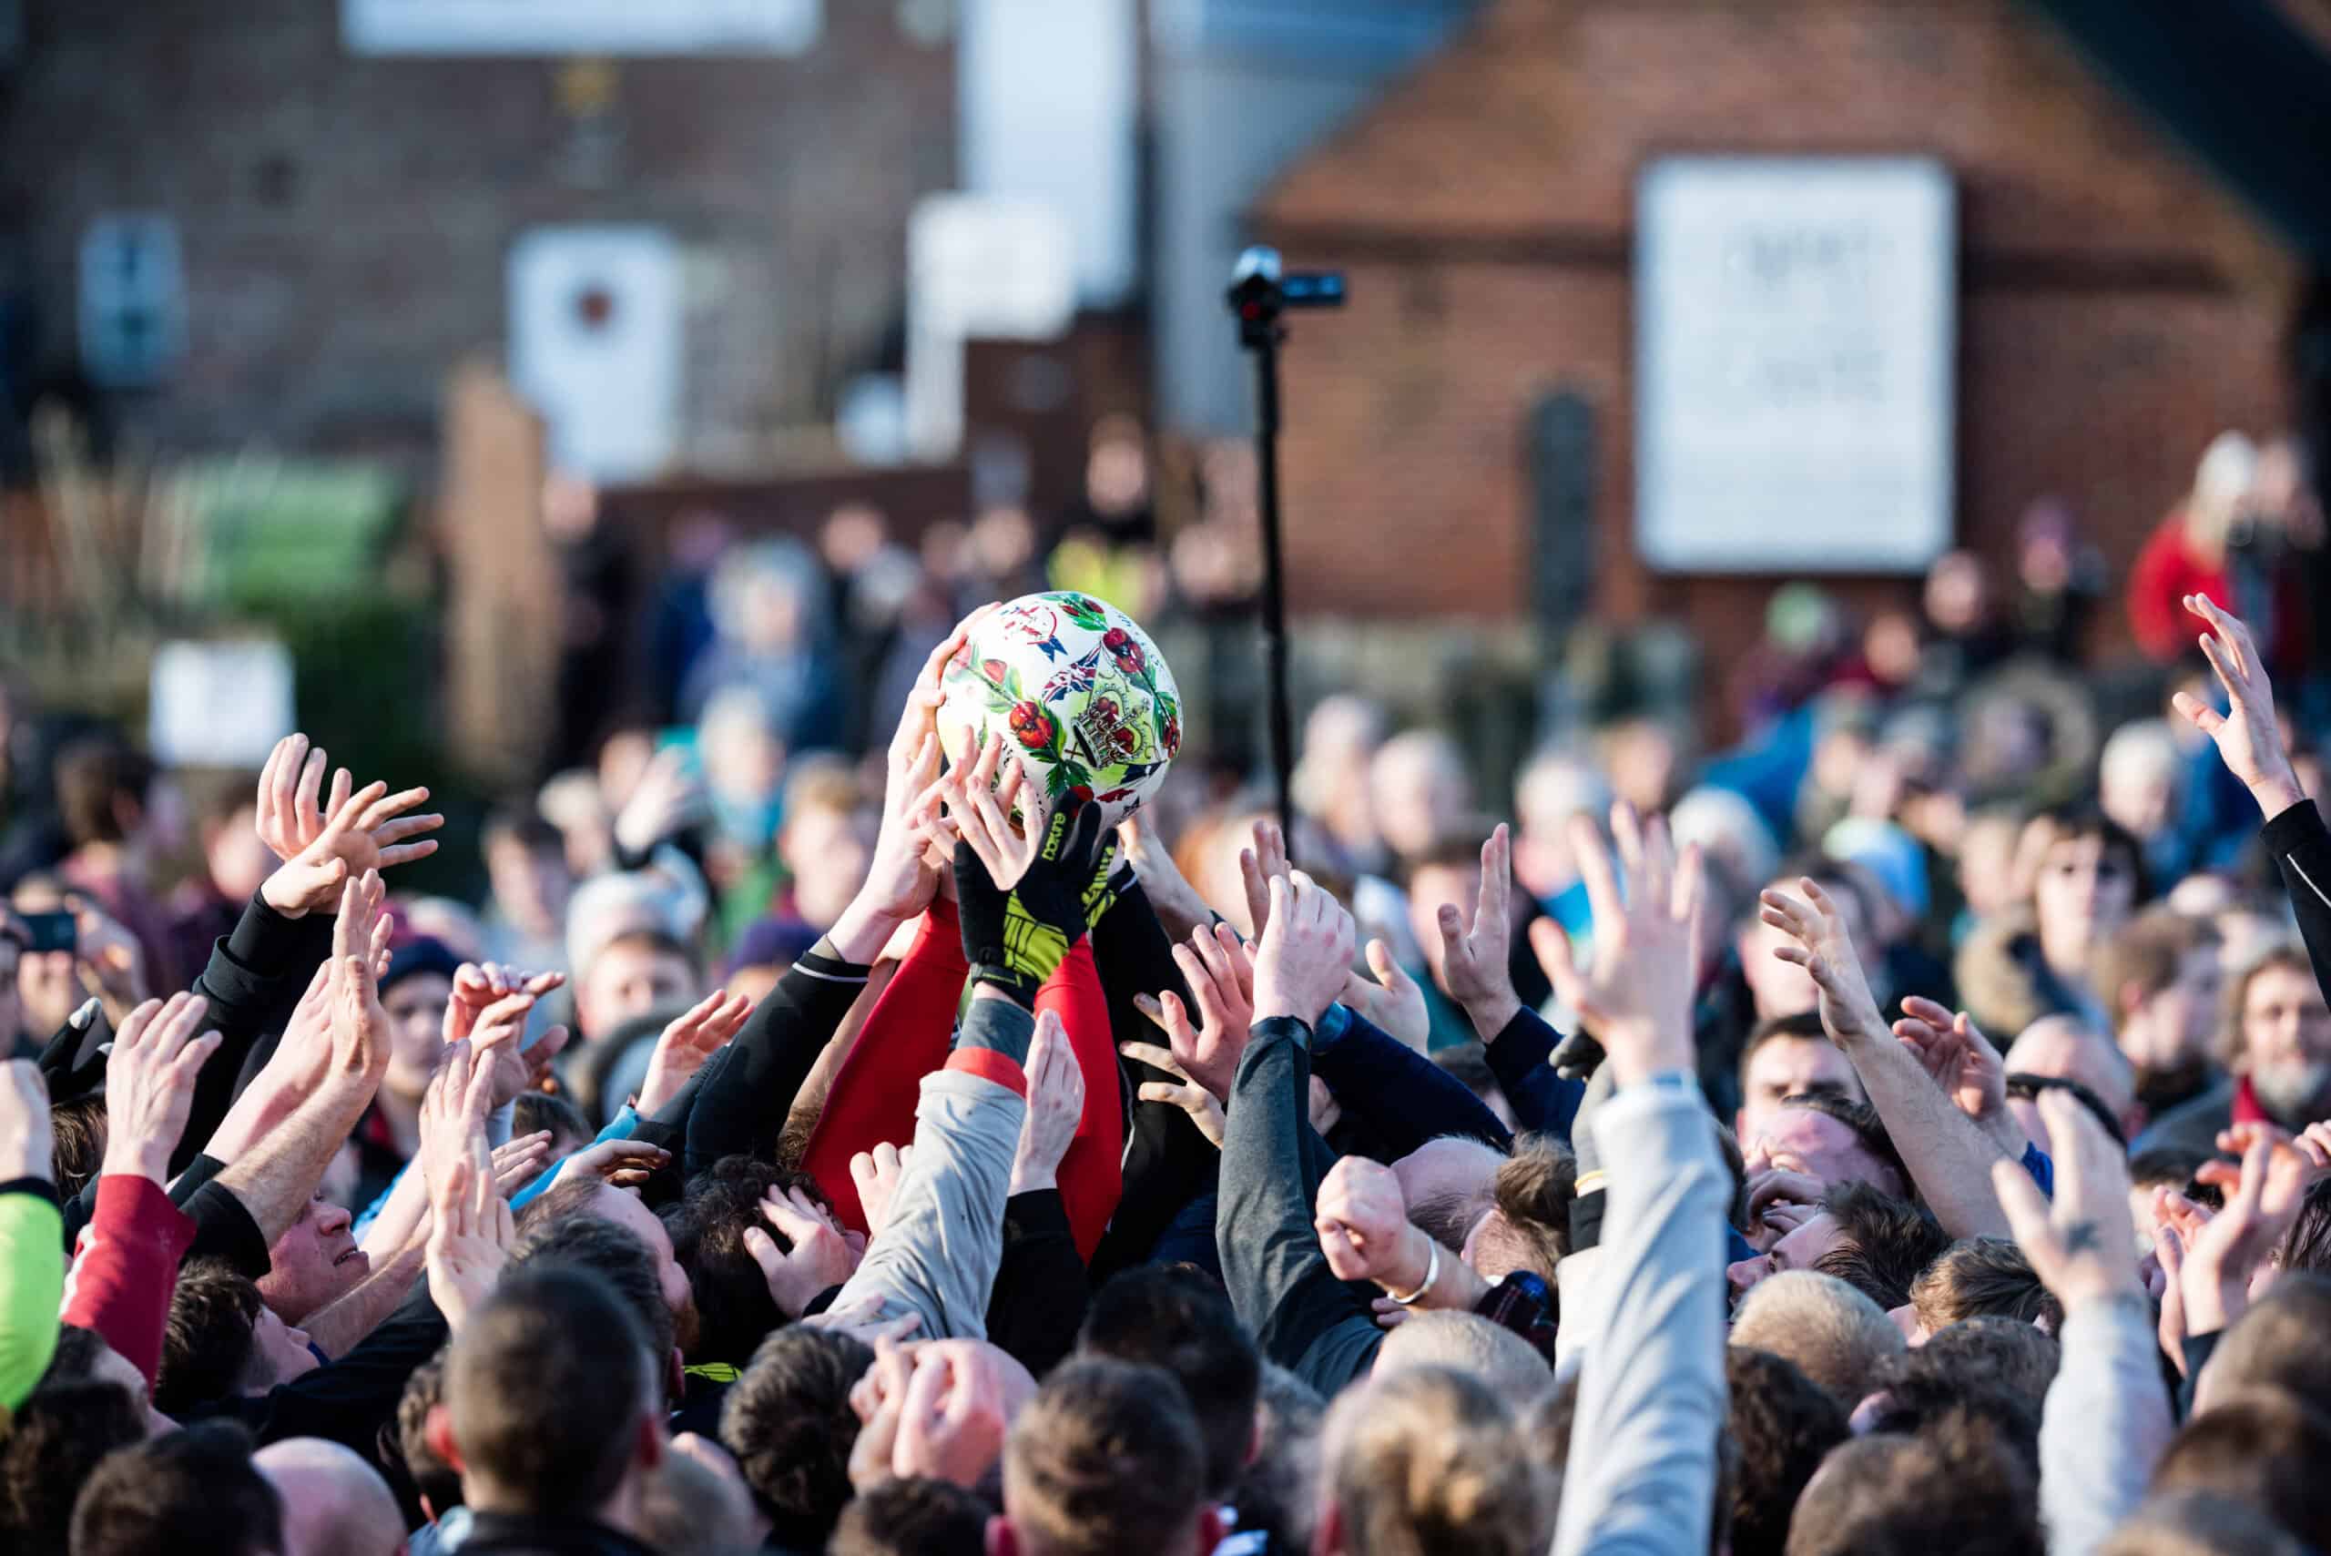
[[[2061,1339],[2040,1414],[2040,1516],[2049,1556],[2086,1556],[2145,1500],[2177,1426],[2145,1302],[2086,1302]]]

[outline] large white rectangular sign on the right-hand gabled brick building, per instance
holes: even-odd
[[[1676,156],[1636,186],[1636,552],[1911,573],[1951,545],[1956,193],[1928,158]]]

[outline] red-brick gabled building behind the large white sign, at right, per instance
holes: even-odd
[[[1949,165],[1960,543],[1998,554],[2061,494],[2119,578],[2214,431],[2287,417],[2296,266],[2030,9],[1492,0],[1252,212],[1352,293],[1287,354],[1298,608],[1524,615],[1559,540],[1529,419],[1566,389],[1592,408],[1592,603],[1681,615],[1716,664],[1755,636],[1774,578],[1655,575],[1629,536],[1634,179],[1669,151]]]

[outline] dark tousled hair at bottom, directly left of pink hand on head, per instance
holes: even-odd
[[[720,1402],[720,1447],[769,1519],[769,1540],[823,1549],[851,1500],[858,1414],[851,1386],[874,1349],[841,1330],[788,1323],[769,1335]]]

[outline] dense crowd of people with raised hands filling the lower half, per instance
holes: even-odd
[[[1035,804],[977,610],[844,673],[774,557],[483,908],[422,773],[7,708],[0,1549],[2331,1549],[2331,834],[2224,578],[2070,778],[1946,566],[1510,818],[1329,699],[1289,836]]]

